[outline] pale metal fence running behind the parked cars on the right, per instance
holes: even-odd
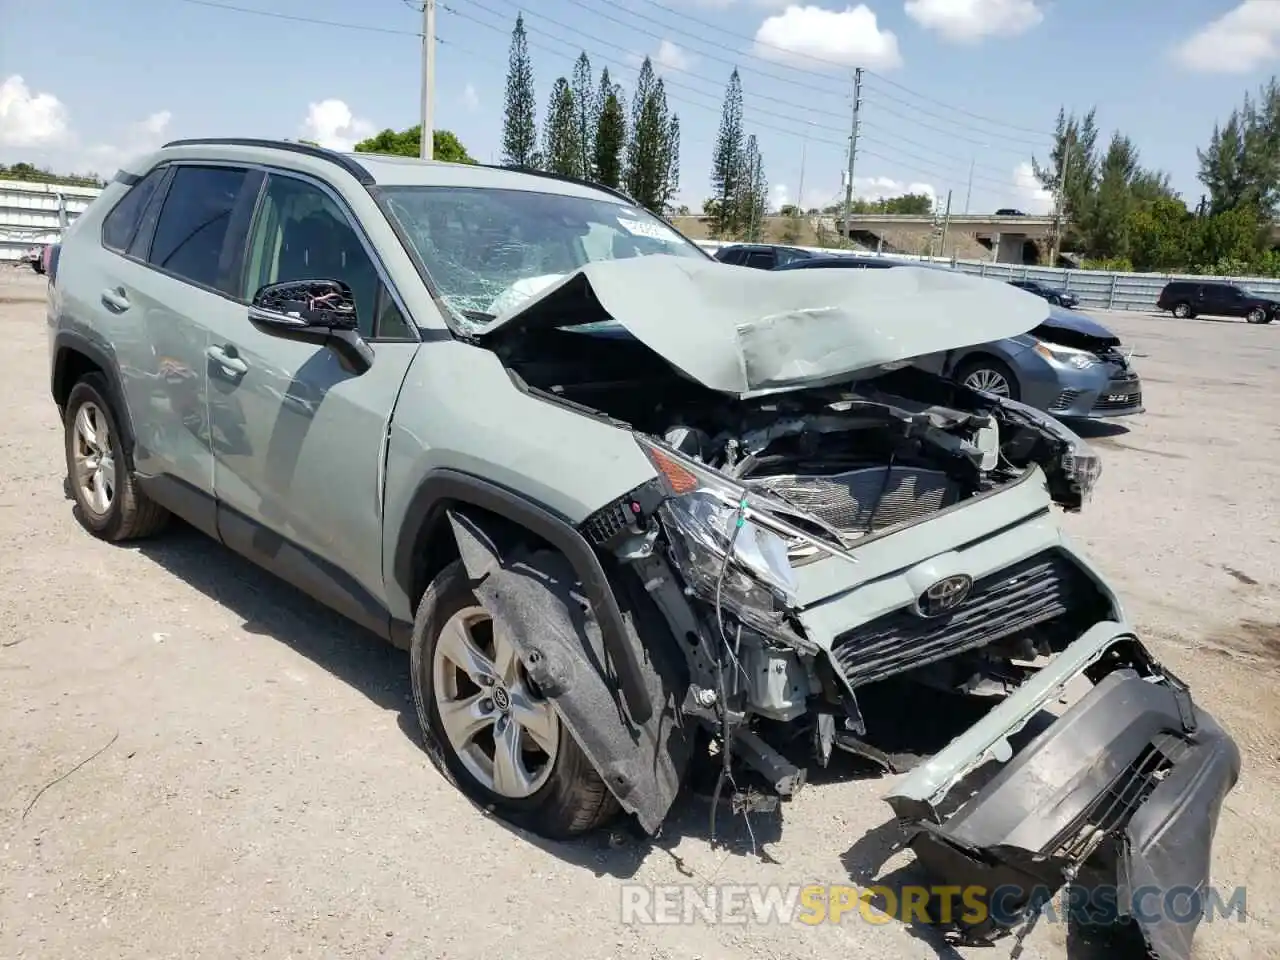
[[[714,251],[727,246],[718,241],[699,241],[700,247]],[[801,247],[819,253],[837,251],[819,247]],[[859,253],[859,256],[877,256]],[[951,266],[974,276],[992,276],[998,280],[1039,280],[1051,287],[1070,291],[1080,298],[1080,306],[1097,310],[1140,310],[1156,308],[1156,297],[1170,280],[1228,280],[1238,283],[1268,296],[1280,296],[1280,279],[1265,276],[1207,276],[1192,274],[1126,274],[1110,270],[1064,270],[1051,266],[1023,266],[1021,264],[997,264],[986,260],[943,260],[941,257],[913,257],[902,253],[882,253],[887,260],[910,262],[929,262]]]

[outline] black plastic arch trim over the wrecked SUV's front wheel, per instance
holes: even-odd
[[[595,612],[604,648],[618,672],[618,684],[631,716],[637,723],[645,723],[653,716],[653,701],[640,669],[639,654],[627,637],[617,596],[591,544],[564,517],[471,474],[433,470],[413,493],[396,544],[393,576],[401,589],[406,594],[412,591],[413,562],[422,534],[433,530],[436,522],[447,524],[444,513],[453,504],[470,504],[506,517],[564,554]]]

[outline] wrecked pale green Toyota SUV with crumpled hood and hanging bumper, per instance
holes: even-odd
[[[974,941],[1085,868],[1198,888],[1239,773],[1055,520],[1093,451],[910,362],[1043,319],[948,271],[733,270],[593,184],[264,141],[165,146],[50,257],[90,531],[177,515],[407,648],[440,771],[547,836],[657,832],[698,764],[783,797],[837,750],[909,771],[920,861],[1024,891]],[[1194,920],[1137,920],[1187,956]]]

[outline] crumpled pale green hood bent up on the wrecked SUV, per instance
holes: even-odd
[[[686,376],[751,397],[1015,337],[1044,321],[1044,301],[948,270],[774,273],[659,255],[588,264],[474,335],[611,320]]]

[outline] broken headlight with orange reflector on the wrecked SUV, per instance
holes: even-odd
[[[636,440],[667,488],[658,517],[689,589],[767,635],[794,640],[785,613],[796,593],[787,541],[753,518],[742,486],[643,436]]]

